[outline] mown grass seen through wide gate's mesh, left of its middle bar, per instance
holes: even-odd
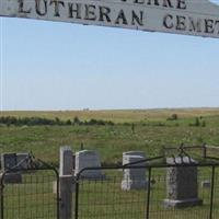
[[[122,191],[122,170],[107,171],[99,180],[79,182],[78,218],[141,219],[145,218],[147,191]]]

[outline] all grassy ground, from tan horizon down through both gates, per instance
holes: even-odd
[[[100,152],[103,165],[122,163],[122,153],[129,150],[140,150],[145,151],[147,157],[155,157],[162,153],[163,146],[175,147],[181,143],[200,146],[205,142],[210,146],[219,146],[219,110],[217,108],[39,113],[10,112],[2,113],[1,116],[9,115],[18,117],[58,117],[61,120],[73,119],[77,116],[80,120],[94,118],[112,120],[114,123],[114,125],[61,126],[0,125],[0,153],[32,151],[36,158],[53,163],[56,166],[58,166],[60,146],[70,146],[73,151],[78,151],[81,149],[81,143],[83,143],[84,149]],[[196,155],[195,153],[194,155]],[[217,150],[212,153],[219,157]],[[201,181],[210,178],[211,170],[200,169],[199,171],[203,174],[198,178],[198,185],[200,185]],[[110,180],[105,181],[105,183],[103,181],[81,182],[79,218],[132,219],[134,215],[135,218],[143,218],[147,192],[122,191],[122,173],[119,171],[108,171],[106,174]],[[9,184],[7,186],[5,194],[11,194],[5,199],[5,206],[8,206],[5,209],[7,218],[15,218],[16,211],[14,209],[18,209],[20,216],[23,210],[23,219],[41,217],[41,214],[45,216],[47,212],[47,218],[54,219],[53,212],[56,211],[55,205],[51,203],[54,201],[51,200],[54,197],[51,191],[54,175],[51,174],[45,181],[45,184],[39,184],[38,182],[41,181],[39,178],[45,180],[48,177],[48,173],[46,172],[45,175],[41,173],[38,177],[37,173],[34,173],[33,177],[36,177],[35,183],[33,183],[34,180],[31,177],[31,174],[24,174],[23,182],[26,182],[25,184]],[[200,186],[199,196],[204,199],[203,206],[174,210],[164,209],[162,206],[162,200],[165,198],[164,177],[164,170],[158,169],[152,172],[152,178],[154,178],[155,184],[151,189],[150,219],[207,218],[210,191],[208,188],[201,188]],[[217,182],[219,181],[219,170],[217,170],[216,180]],[[28,183],[28,181],[32,181],[32,183]],[[22,198],[21,194],[23,194],[23,191],[25,191],[25,194]],[[20,194],[20,196],[16,197],[13,194]],[[41,201],[42,199],[44,203]],[[28,214],[31,215],[26,215],[26,208],[30,209]],[[49,208],[54,209],[49,210]],[[214,208],[219,209],[218,183]],[[108,212],[112,212],[112,215]],[[219,211],[216,210],[214,214],[217,214],[215,216],[217,218]]]

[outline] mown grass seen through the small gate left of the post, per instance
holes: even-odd
[[[22,174],[22,183],[3,188],[4,219],[55,219],[57,196],[53,193],[53,171],[32,171]]]

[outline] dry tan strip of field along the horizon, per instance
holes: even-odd
[[[161,110],[108,110],[108,111],[9,111],[1,112],[1,116],[32,117],[39,116],[46,118],[72,119],[78,116],[82,120],[91,118],[112,120],[115,123],[139,123],[147,120],[165,120],[172,114],[177,114],[180,118],[219,116],[219,108],[161,108]]]

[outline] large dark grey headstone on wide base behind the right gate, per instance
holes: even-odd
[[[191,166],[196,161],[188,157],[168,158],[166,163],[181,166],[168,168],[164,206],[181,208],[201,205],[203,200],[198,198],[197,166]]]

